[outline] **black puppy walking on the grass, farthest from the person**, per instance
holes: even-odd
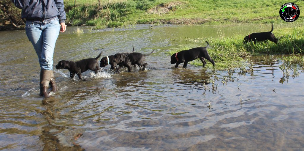
[[[275,35],[273,33],[271,33],[272,30],[273,30],[273,24],[271,24],[271,30],[268,32],[251,33],[250,35],[244,38],[243,44],[246,44],[247,42],[250,41],[253,41],[254,44],[256,44],[257,41],[264,41],[264,40],[270,40],[274,43],[277,43],[278,39],[275,38]]]

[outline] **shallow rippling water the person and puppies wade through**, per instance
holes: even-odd
[[[241,74],[176,69],[165,54],[185,37],[246,35],[269,25],[258,26],[84,27],[81,34],[69,27],[57,40],[54,65],[132,45],[155,52],[145,71],[114,75],[106,66],[97,75],[84,72],[86,81],[54,69],[59,91],[48,99],[38,96],[38,59],[25,31],[0,32],[0,150],[301,150],[302,67],[292,65],[299,75],[290,71],[282,81],[281,56],[250,58],[254,71]]]

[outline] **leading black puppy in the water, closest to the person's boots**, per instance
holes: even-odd
[[[56,69],[68,69],[70,71],[70,78],[74,78],[75,73],[78,75],[79,79],[82,79],[81,73],[85,72],[87,70],[95,71],[95,74],[100,69],[98,67],[98,58],[101,56],[101,53],[96,58],[88,58],[88,59],[82,59],[80,61],[66,61],[61,60],[58,62],[58,64],[55,66]]]

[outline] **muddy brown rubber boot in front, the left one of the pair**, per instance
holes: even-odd
[[[47,93],[47,87],[50,84],[52,72],[51,70],[40,70],[40,96],[50,97],[49,93]]]

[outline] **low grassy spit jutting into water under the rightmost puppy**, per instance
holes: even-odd
[[[187,50],[194,47],[206,46],[208,41],[209,55],[216,62],[217,69],[240,68],[245,65],[245,58],[251,55],[260,54],[303,54],[304,53],[304,27],[281,28],[275,32],[279,39],[278,44],[271,41],[253,42],[243,44],[244,35],[220,38],[198,38],[189,39],[187,44],[181,44],[167,52],[172,55],[178,51]],[[278,35],[282,35],[278,37]],[[301,60],[301,58],[299,59]],[[189,64],[202,66],[199,59],[189,62]],[[212,64],[207,61],[207,68],[212,68]]]

